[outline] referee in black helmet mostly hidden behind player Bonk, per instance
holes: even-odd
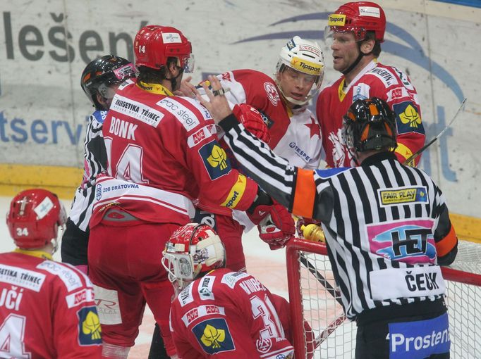
[[[95,177],[106,168],[106,151],[102,125],[116,89],[125,80],[135,77],[137,70],[130,61],[106,55],[91,61],[83,70],[80,86],[92,102],[84,142],[82,183],[75,191],[70,217],[61,242],[62,262],[75,265],[87,274],[89,221],[95,197]]]

